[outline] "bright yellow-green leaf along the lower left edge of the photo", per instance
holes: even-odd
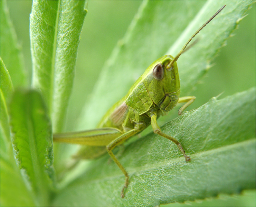
[[[12,92],[12,81],[1,58],[1,206],[34,206],[13,157],[7,110]]]

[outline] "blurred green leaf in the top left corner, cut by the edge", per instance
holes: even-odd
[[[18,44],[6,1],[1,1],[1,57],[9,70],[14,86],[25,85],[21,46]]]

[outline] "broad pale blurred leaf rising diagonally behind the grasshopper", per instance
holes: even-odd
[[[253,1],[143,2],[123,40],[119,41],[80,115],[77,130],[94,128],[156,59],[175,56],[200,26],[227,6],[195,37],[198,43],[177,61],[181,96],[186,96],[210,68],[211,61]],[[164,118],[165,120],[168,117]]]

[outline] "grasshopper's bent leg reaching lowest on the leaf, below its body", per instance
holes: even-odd
[[[134,129],[122,134],[120,137],[116,138],[114,141],[112,141],[110,144],[107,145],[107,152],[111,156],[111,158],[115,161],[117,166],[121,169],[125,176],[125,183],[121,191],[121,197],[124,198],[124,190],[129,185],[129,175],[123,165],[117,160],[116,156],[113,154],[112,150],[119,144],[123,143],[128,138],[132,137],[134,134],[142,131],[145,129],[145,125],[143,123],[136,123]]]

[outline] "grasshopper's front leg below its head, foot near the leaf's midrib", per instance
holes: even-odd
[[[157,123],[157,115],[154,114],[154,113],[152,113],[152,115],[151,115],[151,126],[152,126],[153,131],[154,131],[155,134],[159,134],[160,136],[162,136],[164,138],[167,138],[167,139],[171,140],[172,142],[174,142],[178,146],[178,148],[181,151],[181,153],[183,154],[183,156],[185,157],[186,162],[190,161],[190,157],[188,155],[186,155],[185,150],[183,149],[183,147],[181,146],[179,141],[177,139],[171,137],[170,135],[165,134],[161,131],[161,129],[158,126],[158,123]]]

